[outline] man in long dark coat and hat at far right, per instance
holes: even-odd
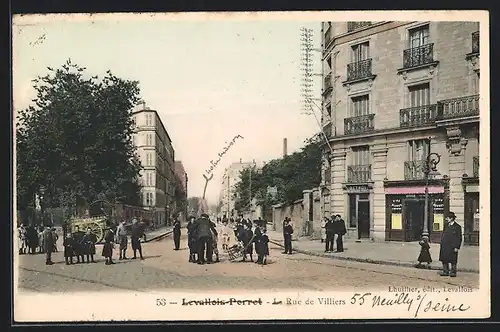
[[[439,260],[443,263],[441,276],[457,276],[458,250],[462,245],[462,227],[455,222],[455,213],[449,212],[441,234]],[[451,270],[450,270],[451,265]]]

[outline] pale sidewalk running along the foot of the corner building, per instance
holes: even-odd
[[[283,234],[268,231],[269,240],[283,245]],[[344,239],[343,253],[325,253],[325,244],[320,240],[301,237],[292,242],[294,251],[306,255],[331,257],[333,259],[351,260],[363,263],[398,265],[412,267],[417,263],[420,245],[417,242],[371,242],[364,240]],[[431,243],[431,269],[440,270],[439,244]],[[458,271],[479,273],[479,247],[462,246],[458,255]]]

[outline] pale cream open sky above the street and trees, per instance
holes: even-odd
[[[91,75],[109,69],[137,80],[188,173],[189,196],[202,195],[202,174],[235,136],[243,139],[217,165],[207,188],[209,203],[218,201],[222,174],[231,163],[280,158],[283,138],[292,153],[319,131],[314,116],[301,111],[300,96],[300,28],[314,29],[319,48],[319,21],[28,18],[15,17],[13,24],[14,110],[35,98],[32,79],[69,58]],[[320,89],[316,79],[318,98]]]

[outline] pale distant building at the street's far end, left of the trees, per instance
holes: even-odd
[[[240,181],[240,172],[250,167],[256,167],[255,161],[243,162],[242,159],[240,159],[239,162],[232,163],[224,170],[219,196],[219,200],[222,203],[221,216],[225,215],[228,218],[235,218],[238,216],[235,210],[236,199],[233,197],[233,193],[235,192],[236,184]]]

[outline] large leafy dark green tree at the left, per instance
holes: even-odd
[[[137,81],[90,77],[68,60],[33,80],[37,97],[16,128],[18,208],[43,186],[51,206],[89,204],[99,195],[138,205],[141,169],[132,144]]]

